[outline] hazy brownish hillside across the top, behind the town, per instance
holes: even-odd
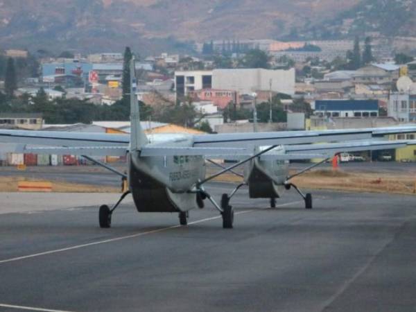
[[[414,1],[382,1],[385,6],[374,6],[379,0],[0,0],[0,45],[56,52],[121,51],[126,44],[144,54],[184,51],[189,44],[183,42],[211,39],[349,35],[372,17],[369,5],[380,11],[372,21],[389,14],[383,11],[394,7],[388,3],[410,2],[414,8]],[[415,32],[401,23],[397,33]],[[366,29],[396,33],[383,21],[372,25]]]

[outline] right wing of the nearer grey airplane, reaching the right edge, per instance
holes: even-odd
[[[348,130],[319,131],[280,131],[280,132],[248,132],[226,133],[218,135],[195,135],[196,147],[234,147],[234,146],[272,146],[289,144],[308,144],[316,142],[339,142],[372,139],[385,135],[415,133],[416,126],[388,128],[366,128]]]

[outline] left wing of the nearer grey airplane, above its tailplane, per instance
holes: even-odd
[[[128,146],[129,135],[106,133],[0,130],[0,142],[46,146]]]

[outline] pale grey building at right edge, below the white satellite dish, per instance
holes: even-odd
[[[393,92],[389,96],[388,116],[397,121],[416,122],[416,94]]]

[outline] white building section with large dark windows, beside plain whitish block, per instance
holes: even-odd
[[[189,92],[212,88],[212,71],[175,71],[176,98],[184,98]]]

